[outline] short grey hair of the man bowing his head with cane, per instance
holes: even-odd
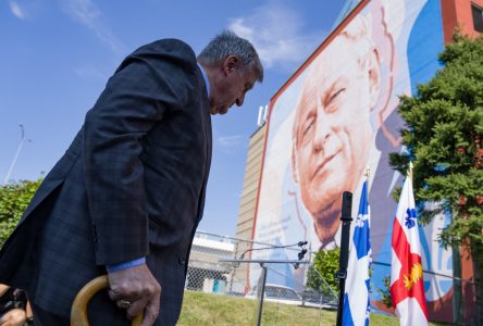
[[[199,63],[212,66],[230,55],[236,55],[240,60],[240,71],[251,68],[257,75],[257,80],[260,83],[263,80],[263,66],[257,50],[248,40],[231,30],[216,35],[197,59]]]

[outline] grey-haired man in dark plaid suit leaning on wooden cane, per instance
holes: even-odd
[[[128,325],[140,312],[143,326],[176,323],[203,211],[210,113],[242,105],[262,78],[252,45],[230,32],[198,58],[164,39],[121,63],[0,252],[0,283],[27,290],[36,325],[69,325],[77,291],[107,272],[90,325]]]

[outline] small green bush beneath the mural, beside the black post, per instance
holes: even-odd
[[[338,248],[333,250],[319,250],[317,252],[313,263],[307,272],[308,288],[319,291],[324,296],[332,296],[332,292],[338,293],[338,279],[335,278],[335,274],[338,272],[339,252],[340,250]],[[332,289],[332,292],[327,286]]]

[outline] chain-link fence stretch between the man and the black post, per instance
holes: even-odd
[[[275,246],[198,231],[191,247],[185,289],[257,299],[262,267],[259,263],[248,262],[256,259],[288,260],[290,264],[264,264],[265,301],[335,310],[336,285],[329,285],[314,269],[312,287],[308,287],[309,265],[296,263],[299,259],[312,261],[312,255],[302,243]]]

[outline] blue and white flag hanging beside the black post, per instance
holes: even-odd
[[[343,325],[369,325],[369,267],[371,265],[371,228],[368,181],[362,186],[359,212],[350,241],[347,279],[344,293]]]

